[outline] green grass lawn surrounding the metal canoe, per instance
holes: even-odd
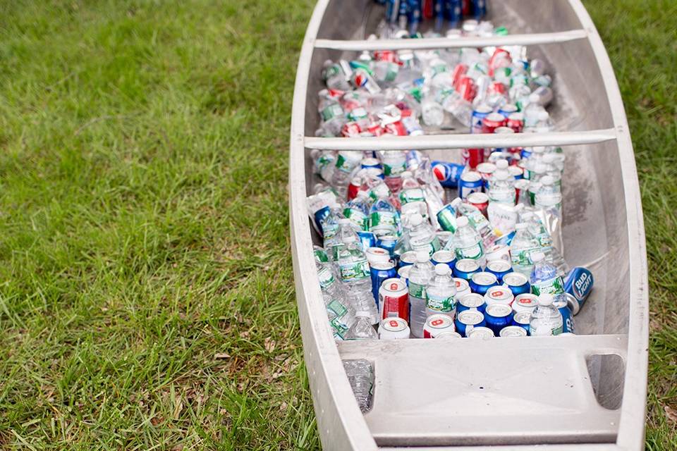
[[[0,448],[315,450],[287,219],[313,1],[0,4]],[[677,440],[677,8],[586,1],[647,226],[647,447]]]

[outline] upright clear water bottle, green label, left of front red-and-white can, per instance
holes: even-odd
[[[346,298],[353,309],[369,312],[372,324],[377,324],[379,311],[372,295],[369,262],[356,235],[348,235],[345,240],[346,246],[338,252],[338,277],[346,285]]]

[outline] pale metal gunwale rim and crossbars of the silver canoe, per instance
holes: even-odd
[[[322,292],[319,290],[319,283],[315,274],[315,261],[312,256],[312,236],[308,226],[307,213],[305,209],[306,180],[305,180],[305,149],[439,149],[458,148],[458,147],[501,147],[492,146],[492,138],[479,138],[483,143],[473,144],[472,141],[477,137],[470,135],[426,135],[425,137],[398,137],[398,138],[316,138],[305,137],[305,115],[307,101],[307,87],[309,85],[310,69],[312,55],[315,49],[346,49],[341,46],[352,45],[348,41],[333,41],[331,39],[316,39],[319,25],[322,23],[324,13],[327,10],[331,0],[319,0],[313,11],[312,18],[307,27],[307,32],[303,40],[303,47],[300,52],[298,70],[295,80],[295,91],[293,97],[293,108],[291,118],[291,144],[290,144],[290,167],[289,167],[289,209],[291,224],[291,247],[293,254],[293,266],[295,277],[296,296],[298,301],[299,318],[301,330],[303,333],[304,357],[307,365],[307,373],[310,381],[313,402],[315,404],[315,413],[317,416],[317,426],[322,439],[324,449],[331,450],[377,450],[377,449],[398,449],[396,447],[377,447],[367,423],[360,413],[357,404],[353,400],[352,390],[347,381],[343,366],[341,364],[341,354],[331,335],[331,330],[327,324],[324,311],[324,302],[322,302]],[[572,142],[571,144],[590,144],[592,142],[606,142],[616,140],[618,155],[621,161],[621,173],[623,176],[623,190],[626,199],[626,215],[628,219],[628,252],[630,253],[630,318],[628,321],[628,340],[627,350],[623,355],[626,366],[625,381],[623,388],[623,402],[620,408],[620,421],[618,426],[618,435],[616,444],[585,444],[585,445],[544,445],[539,449],[547,450],[639,450],[644,443],[644,422],[646,410],[646,386],[647,386],[647,364],[648,364],[648,282],[647,282],[647,263],[645,249],[645,229],[642,216],[642,206],[639,192],[639,184],[635,160],[633,154],[632,142],[630,141],[628,123],[621,94],[618,89],[618,83],[614,75],[611,61],[606,54],[604,44],[597,33],[597,30],[588,16],[587,11],[580,0],[566,0],[569,6],[578,16],[583,25],[581,30],[571,30],[576,33],[585,32],[584,37],[575,39],[587,39],[590,43],[599,70],[602,73],[602,80],[606,88],[611,115],[613,118],[613,128],[604,130],[587,130],[585,132],[568,132],[563,134],[547,133],[532,134],[535,137],[520,137],[518,140],[545,140],[544,144],[531,145],[554,145],[548,144],[553,135],[571,135],[569,137],[557,137],[557,139],[566,138],[565,142],[557,144],[568,145],[567,140],[573,138],[573,135],[588,134],[583,141]],[[561,35],[566,32],[542,33],[538,39],[544,39],[542,35]],[[520,36],[520,35],[515,35]],[[521,35],[536,36],[536,35]],[[484,38],[488,39],[488,38]],[[532,39],[532,38],[529,38]],[[559,39],[559,38],[558,38]],[[419,39],[425,41],[426,39]],[[445,39],[446,40],[446,39]],[[573,39],[563,39],[556,42],[567,42]],[[367,45],[365,41],[355,41],[355,45]],[[532,42],[532,44],[535,42]],[[539,42],[546,44],[547,42]],[[424,43],[428,45],[432,43]],[[369,45],[373,48],[373,42]],[[468,44],[463,44],[468,45]],[[486,44],[484,44],[486,45]],[[566,45],[566,44],[564,44]],[[338,46],[338,47],[331,47]],[[391,47],[390,47],[391,48]],[[427,48],[427,47],[419,47]],[[597,136],[593,136],[597,133]],[[541,135],[541,136],[539,136]],[[543,136],[546,135],[546,136]],[[436,137],[437,136],[437,137]],[[440,145],[441,140],[448,137],[451,142],[446,146]],[[594,137],[593,141],[590,141]],[[418,142],[413,138],[419,138]],[[512,139],[511,138],[508,138]],[[353,143],[348,141],[354,140]],[[372,140],[371,143],[368,141]],[[428,141],[425,141],[428,140]],[[465,141],[464,141],[465,140]],[[585,141],[587,140],[587,141]],[[595,141],[597,140],[597,141]],[[487,143],[484,143],[487,141]],[[506,137],[501,140],[501,144],[506,144]],[[384,144],[385,143],[385,144]],[[461,145],[459,145],[459,143]],[[387,145],[386,145],[387,144]],[[414,144],[414,147],[412,147]],[[367,147],[363,147],[367,145]],[[385,147],[384,147],[385,145]],[[512,145],[512,144],[508,144]],[[519,144],[515,144],[519,145]],[[344,146],[344,147],[341,147]],[[392,147],[389,147],[392,146]],[[638,433],[642,431],[642,433]],[[501,446],[492,447],[501,450]],[[417,448],[408,448],[415,450]],[[424,449],[424,448],[421,448]],[[425,450],[443,450],[449,447],[425,447]],[[465,447],[453,447],[453,449],[470,449]],[[473,450],[480,448],[472,447]],[[505,447],[507,450],[508,447]],[[510,450],[532,449],[527,446],[509,446]]]

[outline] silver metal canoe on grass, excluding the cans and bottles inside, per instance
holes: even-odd
[[[291,118],[291,247],[305,363],[325,450],[640,450],[644,447],[648,292],[645,231],[626,114],[613,68],[579,0],[495,0],[511,35],[368,41],[382,6],[319,0],[300,52]],[[514,135],[314,137],[322,63],[363,49],[528,45],[556,74],[551,116],[566,130]],[[380,47],[379,47],[380,46]],[[565,147],[563,242],[595,286],[578,335],[511,340],[334,342],[315,272],[305,197],[309,149]],[[362,415],[341,359],[374,363]],[[501,447],[503,445],[504,447]],[[496,447],[499,446],[499,447]]]

